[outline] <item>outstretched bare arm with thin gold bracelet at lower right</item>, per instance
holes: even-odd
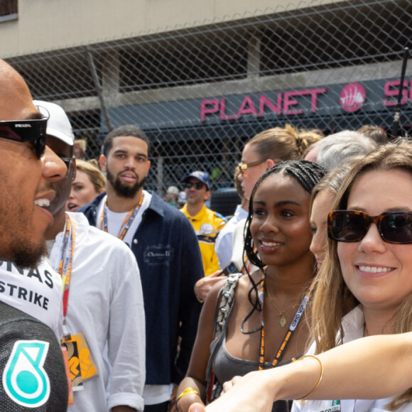
[[[323,379],[308,399],[381,399],[405,391],[412,386],[411,347],[408,332],[365,337],[319,354]],[[194,404],[189,412],[269,412],[273,401],[310,393],[319,378],[320,364],[308,357],[251,372],[207,408]]]

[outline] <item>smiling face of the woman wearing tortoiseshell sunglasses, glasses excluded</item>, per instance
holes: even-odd
[[[412,175],[374,170],[354,182],[347,210],[370,216],[391,210],[412,211]],[[364,308],[396,310],[412,292],[412,244],[391,244],[371,224],[359,242],[337,244],[347,287]]]

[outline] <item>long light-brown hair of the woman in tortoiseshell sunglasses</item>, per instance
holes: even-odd
[[[402,170],[412,175],[412,143],[400,139],[380,146],[359,159],[349,170],[337,192],[332,210],[347,209],[347,200],[354,183],[372,171]],[[327,254],[317,278],[313,299],[310,330],[316,342],[316,352],[325,352],[342,344],[342,318],[359,304],[343,280],[337,256],[337,242],[327,240]],[[412,331],[412,293],[403,301],[394,318],[393,333]],[[339,336],[339,338],[337,338]],[[403,403],[412,401],[412,388],[395,396],[387,406],[394,411]]]

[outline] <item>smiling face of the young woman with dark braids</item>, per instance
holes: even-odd
[[[257,188],[250,231],[261,260],[284,266],[307,258],[310,195],[295,178],[273,173]]]

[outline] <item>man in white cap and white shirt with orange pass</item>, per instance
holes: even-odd
[[[143,411],[145,327],[136,259],[119,239],[91,227],[84,215],[65,213],[75,177],[74,135],[61,107],[35,104],[50,116],[48,145],[68,165],[67,178],[54,185],[56,196],[49,207],[54,223],[45,234],[50,263],[64,283],[63,345],[73,351],[72,379],[78,372],[82,380],[74,386],[79,390],[68,410]]]

